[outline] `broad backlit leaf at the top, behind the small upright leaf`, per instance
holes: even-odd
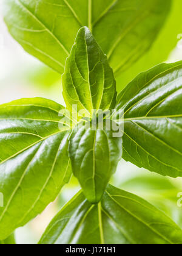
[[[138,60],[160,32],[170,0],[4,0],[10,34],[59,73],[78,29],[89,27],[115,73]]]

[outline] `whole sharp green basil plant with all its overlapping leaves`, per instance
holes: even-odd
[[[2,243],[54,201],[72,174],[81,190],[39,244],[182,243],[180,227],[161,210],[109,184],[121,158],[162,176],[182,176],[182,62],[155,66],[116,91],[119,74],[152,46],[170,5],[4,1],[10,34],[62,74],[66,107],[43,98],[0,106]]]

